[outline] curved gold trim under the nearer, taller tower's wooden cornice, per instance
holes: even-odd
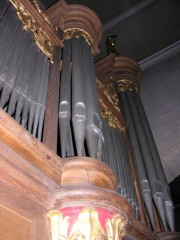
[[[93,40],[88,32],[84,31],[80,28],[69,28],[64,31],[63,39],[69,39],[73,37],[84,37],[86,42],[92,47],[93,46]]]

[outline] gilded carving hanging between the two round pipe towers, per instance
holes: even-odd
[[[108,125],[110,127],[117,128],[121,132],[124,132],[126,130],[126,125],[122,119],[120,120],[121,113],[114,84],[108,83],[105,85],[99,80],[97,80],[97,85],[99,88],[99,102],[101,116],[107,120]],[[100,93],[103,93],[105,95],[106,100]],[[109,106],[107,104],[107,101],[109,101],[110,103]],[[114,109],[114,111],[112,111],[112,109]]]

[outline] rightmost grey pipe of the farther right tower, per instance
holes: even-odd
[[[172,199],[170,196],[170,189],[167,184],[167,180],[166,180],[166,176],[165,176],[165,173],[164,173],[164,170],[162,167],[160,156],[159,156],[159,153],[158,153],[158,150],[156,147],[156,143],[154,141],[152,131],[150,129],[141,99],[136,92],[133,92],[133,95],[134,95],[134,101],[135,101],[138,111],[139,111],[139,115],[142,119],[144,131],[145,131],[148,143],[149,143],[151,154],[152,154],[152,157],[154,160],[153,162],[154,162],[155,168],[157,170],[158,178],[159,178],[159,180],[162,184],[163,190],[164,190],[165,210],[166,210],[168,226],[171,229],[171,231],[174,231],[174,207],[173,207],[173,202],[172,202]]]

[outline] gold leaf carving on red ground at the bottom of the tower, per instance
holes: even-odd
[[[103,208],[67,207],[48,212],[52,240],[119,240],[125,218]]]

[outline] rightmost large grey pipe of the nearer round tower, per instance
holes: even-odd
[[[82,41],[83,70],[85,78],[87,125],[86,125],[86,143],[88,154],[92,158],[97,158],[98,145],[102,142],[100,129],[99,104],[97,96],[97,83],[94,72],[93,59],[90,46],[86,41]],[[99,152],[102,146],[99,145]],[[99,153],[101,155],[101,153]]]

